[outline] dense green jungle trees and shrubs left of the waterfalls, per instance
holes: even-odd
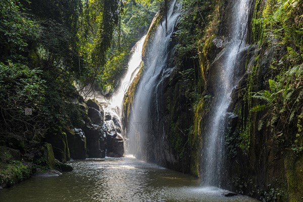
[[[23,179],[7,175],[11,164],[23,164],[20,158],[7,158],[14,151],[6,146],[20,150],[22,159],[32,163],[32,157],[24,155],[35,141],[62,140],[67,131],[83,127],[87,112],[79,105],[83,102],[80,93],[87,95],[94,89],[109,93],[118,87],[132,46],[146,33],[162,4],[141,0],[0,1],[2,180],[10,179],[5,181],[9,185]],[[26,115],[25,109],[32,114]]]

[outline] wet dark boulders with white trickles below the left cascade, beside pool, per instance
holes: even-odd
[[[87,100],[88,117],[83,131],[75,129],[75,148],[83,148],[86,137],[88,158],[123,157],[124,141],[121,137],[121,124],[115,110],[108,110],[107,103],[98,103],[95,99]],[[106,109],[106,112],[105,110]],[[78,144],[78,145],[76,145]],[[82,150],[83,151],[83,150]],[[77,151],[80,152],[80,151]],[[84,159],[84,151],[74,153],[77,158]]]

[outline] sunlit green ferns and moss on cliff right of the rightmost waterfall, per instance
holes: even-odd
[[[249,112],[243,121],[241,135],[250,138],[250,132],[255,127],[251,113],[259,112],[262,118],[258,122],[258,130],[266,126],[278,142],[299,151],[302,147],[299,128],[302,114],[303,23],[298,19],[302,16],[299,9],[302,1],[271,0],[262,5],[262,1],[256,2],[252,21],[253,40],[262,48],[277,51],[270,56],[272,79],[268,80],[268,89],[252,92],[256,68],[252,69],[244,97]],[[256,57],[256,67],[260,65],[261,54]],[[251,98],[260,102],[251,106]]]

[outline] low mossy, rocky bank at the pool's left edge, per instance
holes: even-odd
[[[52,145],[28,141],[11,133],[1,135],[0,188],[8,188],[31,176],[59,176],[72,171],[69,165],[55,159]]]

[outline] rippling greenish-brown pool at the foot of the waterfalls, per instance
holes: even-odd
[[[0,190],[0,201],[257,201],[225,197],[226,190],[201,187],[186,174],[133,158],[72,161],[74,171],[58,177],[32,177]]]

